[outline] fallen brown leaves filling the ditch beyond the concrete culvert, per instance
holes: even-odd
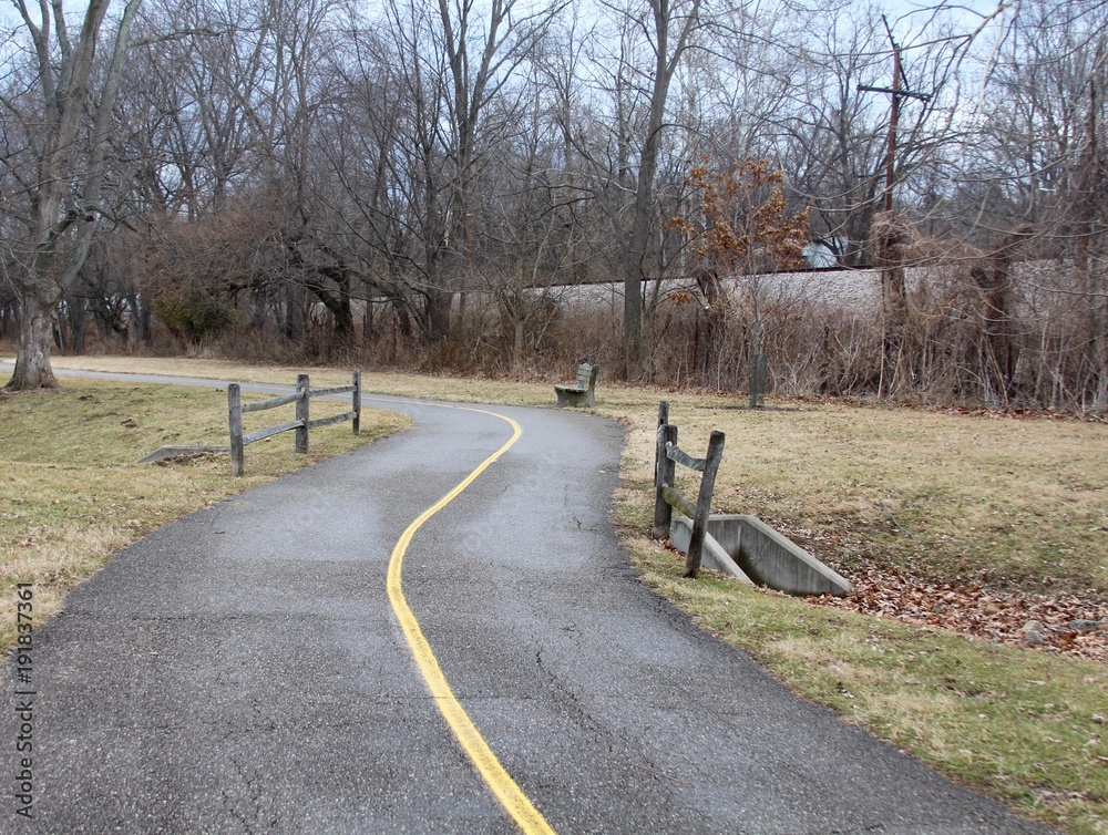
[[[862,564],[851,570],[848,598],[809,601],[916,626],[951,629],[995,643],[1108,664],[1108,604],[1069,592],[1001,591],[974,583],[934,583],[907,571]]]

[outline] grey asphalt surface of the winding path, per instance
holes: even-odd
[[[1045,832],[798,699],[646,589],[608,517],[617,424],[366,403],[416,427],[154,532],[34,632],[32,821],[6,666],[0,832],[517,832],[386,590],[406,528],[510,440],[505,419],[522,435],[416,530],[402,584],[551,828]]]

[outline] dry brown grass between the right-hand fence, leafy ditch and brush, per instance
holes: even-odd
[[[654,415],[632,420],[627,475],[648,481]],[[717,512],[760,516],[848,574],[865,560],[1108,598],[1106,424],[800,402],[678,404],[671,421],[695,454],[727,434]]]

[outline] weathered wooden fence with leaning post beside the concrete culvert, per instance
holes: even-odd
[[[693,519],[689,551],[685,558],[685,577],[695,578],[700,571],[700,554],[704,537],[708,533],[708,516],[711,513],[711,494],[716,488],[716,472],[724,457],[724,433],[712,432],[708,440],[708,453],[702,458],[694,458],[677,446],[677,426],[669,423],[669,403],[658,403],[658,445],[654,463],[654,529],[655,539],[669,538],[669,525],[674,509]],[[674,487],[677,464],[701,473],[700,493],[693,504]]]

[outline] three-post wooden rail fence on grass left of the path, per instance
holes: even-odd
[[[324,398],[329,394],[350,394],[350,411],[342,414],[331,415],[310,420],[309,403],[311,398]],[[247,412],[260,412],[266,409],[277,409],[278,406],[296,403],[296,420],[281,423],[277,426],[267,426],[255,432],[243,434],[243,415]],[[280,432],[296,431],[296,451],[308,451],[309,430],[320,426],[329,426],[332,423],[342,421],[353,422],[353,433],[361,433],[361,371],[355,370],[353,382],[350,385],[337,385],[331,389],[312,389],[308,382],[307,374],[298,374],[296,378],[296,391],[293,394],[284,394],[269,400],[259,400],[254,403],[243,403],[243,392],[238,383],[227,386],[227,419],[230,424],[230,474],[242,475],[245,466],[244,447],[255,441],[271,437]]]

